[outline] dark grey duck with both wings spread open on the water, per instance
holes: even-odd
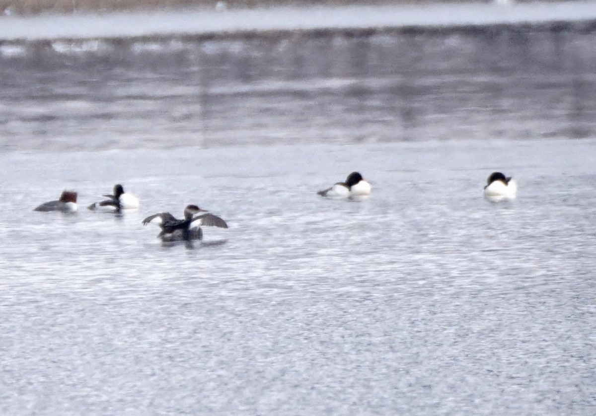
[[[162,241],[190,241],[203,238],[203,226],[228,228],[228,224],[216,215],[200,209],[196,205],[188,205],[184,209],[184,219],[177,219],[169,212],[148,216],[143,225],[154,223],[162,228],[157,237]]]

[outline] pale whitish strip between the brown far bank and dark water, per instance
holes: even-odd
[[[344,5],[243,10],[127,11],[0,17],[0,41],[181,39],[201,41],[373,33],[596,31],[596,1]],[[516,30],[518,30],[516,29]]]

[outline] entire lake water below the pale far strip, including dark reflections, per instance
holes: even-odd
[[[595,33],[358,33],[0,45],[0,413],[596,411]]]

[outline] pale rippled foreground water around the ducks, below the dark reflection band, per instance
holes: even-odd
[[[588,414],[595,144],[2,156],[2,410]],[[513,203],[480,196],[495,166]],[[354,167],[373,197],[315,194]],[[138,212],[30,211],[123,178]],[[141,226],[187,203],[230,228]]]

